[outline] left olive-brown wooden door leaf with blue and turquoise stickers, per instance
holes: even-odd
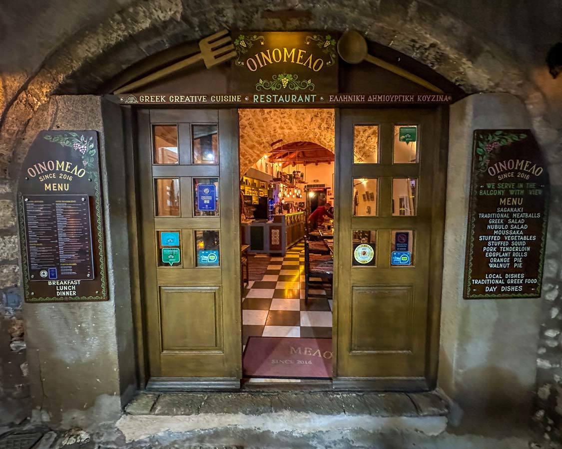
[[[237,111],[144,109],[138,130],[147,389],[238,388]]]

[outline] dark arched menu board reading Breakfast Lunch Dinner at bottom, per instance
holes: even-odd
[[[96,131],[39,133],[18,214],[25,301],[108,299]]]

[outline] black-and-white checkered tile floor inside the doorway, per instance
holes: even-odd
[[[259,256],[252,263],[259,263]],[[332,337],[332,300],[309,298],[305,304],[305,245],[271,258],[261,281],[250,281],[242,302],[243,344],[248,337]],[[313,278],[314,280],[314,278]],[[311,289],[310,294],[328,295]]]

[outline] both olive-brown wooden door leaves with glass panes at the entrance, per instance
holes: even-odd
[[[137,117],[147,388],[239,387],[237,111]],[[433,109],[336,113],[334,388],[425,390],[436,380],[440,117]]]

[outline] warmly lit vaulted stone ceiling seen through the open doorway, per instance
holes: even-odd
[[[334,152],[333,109],[239,109],[240,173],[277,145],[310,141]]]

